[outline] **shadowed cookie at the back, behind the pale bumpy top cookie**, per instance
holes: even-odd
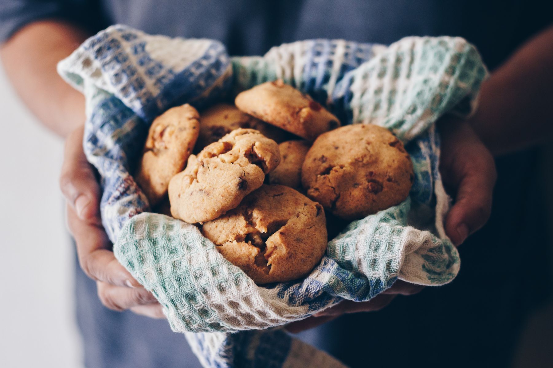
[[[259,130],[265,137],[279,143],[285,139],[286,132],[267,124],[229,104],[218,104],[200,114],[200,136],[196,150],[200,151],[207,145],[217,142],[234,129]]]

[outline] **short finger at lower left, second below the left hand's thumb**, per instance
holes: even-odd
[[[100,301],[113,311],[121,312],[129,308],[157,302],[152,293],[142,287],[133,289],[131,287],[109,285],[102,281],[96,282],[96,285]]]

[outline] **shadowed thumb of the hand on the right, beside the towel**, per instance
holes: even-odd
[[[476,149],[467,156],[458,168],[455,204],[445,223],[446,233],[456,246],[488,221],[496,179],[495,163],[486,149]]]

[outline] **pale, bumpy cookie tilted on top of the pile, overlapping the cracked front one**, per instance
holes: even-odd
[[[213,220],[259,188],[280,162],[275,141],[253,129],[236,129],[211,143],[169,183],[171,214],[196,223]]]

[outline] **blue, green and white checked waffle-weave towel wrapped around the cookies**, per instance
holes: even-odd
[[[265,56],[229,57],[218,41],[153,36],[111,26],[59,63],[86,97],[84,149],[103,189],[113,251],[152,291],[171,328],[206,367],[342,366],[277,328],[343,299],[367,301],[401,279],[442,285],[459,269],[435,121],[471,113],[486,68],[460,38],[409,37],[392,45],[307,40]],[[353,221],[304,280],[259,287],[194,226],[149,212],[131,174],[148,127],[166,109],[197,109],[282,78],[343,124],[387,127],[413,159],[409,198]]]

